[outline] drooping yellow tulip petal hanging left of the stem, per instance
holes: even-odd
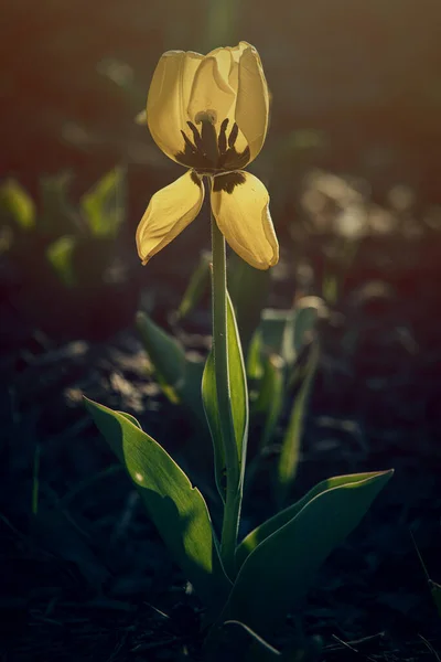
[[[138,255],[143,265],[197,216],[203,202],[204,186],[193,171],[187,171],[153,195],[136,235]]]

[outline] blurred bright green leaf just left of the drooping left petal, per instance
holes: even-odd
[[[125,221],[125,171],[114,168],[83,195],[79,205],[94,236],[114,238]]]

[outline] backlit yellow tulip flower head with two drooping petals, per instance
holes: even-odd
[[[258,269],[276,265],[268,191],[243,170],[268,127],[268,86],[256,49],[240,42],[205,56],[168,51],[150,85],[147,121],[158,147],[190,170],[152,196],[137,229],[142,264],[197,216],[206,177],[213,215],[232,248]]]

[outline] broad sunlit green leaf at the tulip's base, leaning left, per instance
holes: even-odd
[[[85,398],[99,431],[138,487],[162,540],[207,605],[222,605],[229,581],[222,570],[208,509],[169,453],[129,418]]]

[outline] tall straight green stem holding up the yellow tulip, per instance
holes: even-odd
[[[226,573],[235,576],[235,552],[240,514],[240,470],[232,414],[228,373],[227,279],[225,238],[212,213],[213,250],[213,354],[217,406],[226,466],[226,496],[220,538],[220,555]]]

